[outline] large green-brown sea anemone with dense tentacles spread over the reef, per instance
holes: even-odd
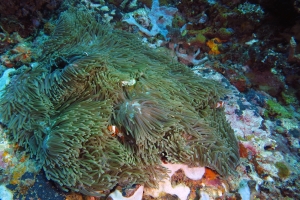
[[[39,63],[12,77],[2,121],[62,189],[155,187],[166,176],[162,159],[234,173],[237,140],[216,108],[226,90],[135,36],[66,11]]]

